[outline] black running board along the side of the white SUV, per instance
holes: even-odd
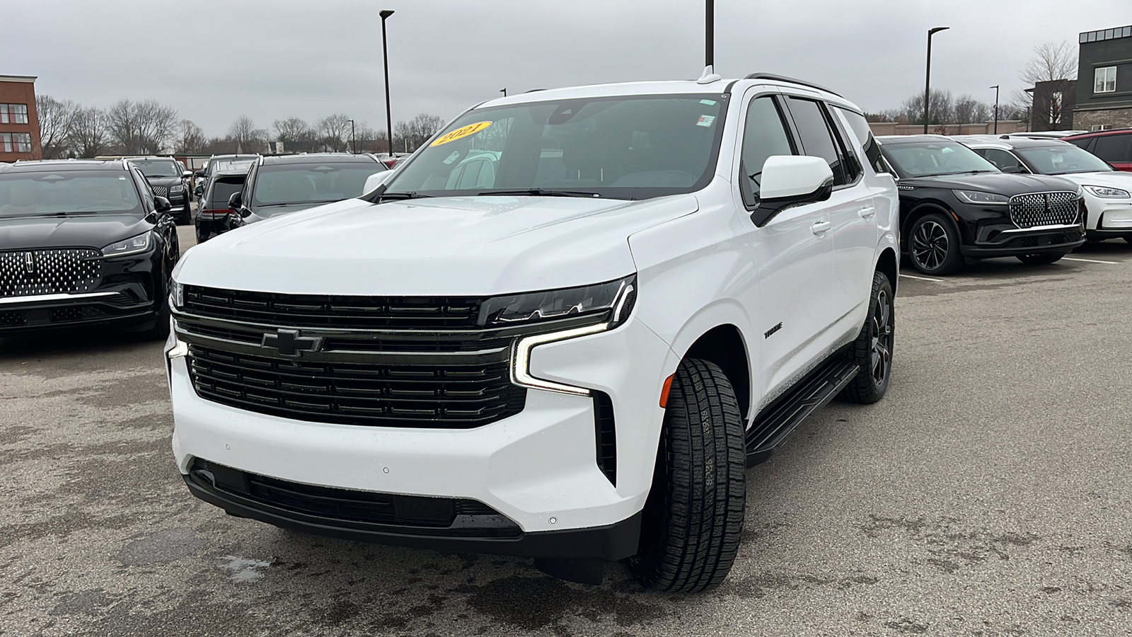
[[[765,462],[795,427],[833,400],[859,371],[844,354],[837,355],[760,411],[747,430],[747,468]]]

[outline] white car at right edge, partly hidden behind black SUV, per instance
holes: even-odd
[[[1092,153],[1060,139],[1013,135],[957,136],[1004,172],[1055,175],[1084,192],[1084,232],[1090,241],[1123,237],[1132,244],[1132,172],[1114,169]]]

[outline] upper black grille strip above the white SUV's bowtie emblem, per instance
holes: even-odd
[[[283,295],[185,287],[185,311],[198,316],[293,328],[475,328],[479,298]]]

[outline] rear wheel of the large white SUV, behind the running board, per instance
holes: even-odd
[[[892,281],[883,272],[873,273],[873,290],[868,298],[868,316],[860,334],[849,349],[849,357],[860,365],[860,372],[841,390],[840,398],[849,402],[871,404],[884,398],[892,375],[895,305]]]

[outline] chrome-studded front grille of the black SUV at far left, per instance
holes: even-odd
[[[0,253],[0,297],[88,292],[102,277],[100,256],[91,248]]]

